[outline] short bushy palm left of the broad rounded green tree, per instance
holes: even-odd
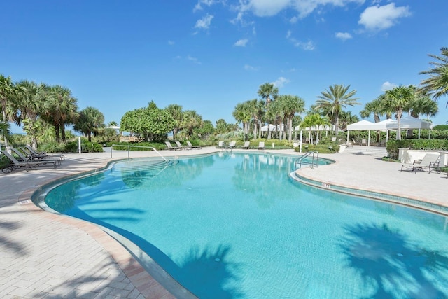
[[[92,134],[97,135],[104,125],[104,115],[94,107],[86,107],[79,112],[78,120],[73,127],[74,130],[82,132],[89,142],[92,141]]]

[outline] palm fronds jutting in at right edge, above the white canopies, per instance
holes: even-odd
[[[442,95],[448,95],[448,48],[440,48],[442,56],[429,54],[429,57],[433,57],[438,61],[430,62],[433,65],[432,69],[428,71],[421,71],[419,74],[428,74],[430,78],[421,81],[421,90],[432,95],[434,99],[442,97]],[[448,106],[448,102],[447,102]]]

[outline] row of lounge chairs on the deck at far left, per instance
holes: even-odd
[[[18,168],[25,168],[27,171],[39,167],[50,165],[54,169],[62,164],[65,159],[64,154],[47,155],[45,152],[36,152],[31,146],[21,146],[20,148],[10,148],[12,153],[1,150],[1,153],[10,160],[7,167],[1,169],[4,173],[12,172]]]

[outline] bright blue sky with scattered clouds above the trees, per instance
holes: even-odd
[[[235,123],[263,83],[307,108],[333,84],[362,105],[419,75],[448,46],[448,1],[3,1],[0,74],[64,85],[106,123],[148,105],[181,104]],[[431,118],[448,120],[445,104]],[[17,129],[13,128],[13,132]]]

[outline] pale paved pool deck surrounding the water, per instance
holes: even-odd
[[[365,146],[364,146],[365,148]],[[167,157],[216,148],[161,151]],[[257,151],[261,152],[261,151]],[[293,150],[278,150],[299,156]],[[176,298],[96,225],[36,207],[31,194],[45,183],[104,167],[127,151],[68,154],[61,167],[0,172],[0,298]],[[131,158],[155,156],[132,152]],[[358,152],[321,155],[336,163],[300,169],[322,183],[389,193],[448,207],[447,174],[400,172],[400,163]],[[178,295],[178,297],[181,297]]]

